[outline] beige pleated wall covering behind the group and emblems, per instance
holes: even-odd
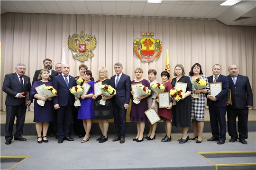
[[[123,72],[134,79],[134,69],[157,71],[157,80],[165,69],[166,47],[169,51],[171,77],[174,66],[183,64],[186,75],[192,65],[199,62],[205,75],[212,75],[214,64],[222,66],[222,74],[228,75],[228,66],[237,64],[239,73],[249,77],[253,91],[256,91],[256,27],[226,26],[215,19],[190,19],[171,17],[125,17],[87,16],[59,14],[7,13],[1,15],[2,60],[1,77],[15,71],[21,62],[27,66],[26,75],[31,78],[37,69],[43,68],[43,60],[50,58],[53,63],[61,61],[65,44],[66,62],[70,64],[70,75],[78,76],[82,63],[73,59],[68,49],[68,37],[74,33],[95,35],[97,39],[94,57],[84,62],[97,77],[100,66],[109,68],[123,64]],[[154,38],[163,42],[161,56],[153,62],[143,62],[133,51],[133,42],[142,38],[142,32],[155,33]],[[2,83],[1,83],[2,85]],[[1,91],[1,109],[5,108],[5,93]],[[33,106],[32,106],[33,108]],[[256,108],[256,94],[254,95]]]

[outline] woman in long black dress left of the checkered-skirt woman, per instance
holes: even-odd
[[[175,87],[176,82],[187,83],[186,91],[184,92],[183,98],[176,102],[173,106],[173,126],[179,127],[183,136],[179,139],[180,144],[184,144],[188,141],[189,136],[187,135],[188,128],[191,127],[191,92],[192,83],[188,76],[185,76],[184,67],[182,64],[177,64],[174,68],[174,76],[172,79],[172,86]],[[173,99],[174,100],[174,99]]]

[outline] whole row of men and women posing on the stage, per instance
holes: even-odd
[[[19,63],[16,66],[16,73],[5,75],[2,90],[7,93],[6,97],[6,142],[11,144],[13,139],[12,131],[14,119],[17,117],[16,133],[14,140],[26,141],[22,137],[23,126],[25,123],[25,114],[27,106],[34,102],[34,122],[37,129],[37,143],[47,143],[47,132],[52,137],[58,139],[61,144],[64,140],[73,141],[69,136],[72,115],[74,120],[74,131],[83,137],[81,143],[85,143],[90,139],[91,119],[97,119],[101,129],[101,136],[97,138],[99,143],[108,141],[108,119],[114,118],[114,124],[117,136],[112,139],[113,142],[119,141],[120,144],[125,143],[126,134],[126,112],[129,107],[130,99],[135,93],[131,89],[132,84],[141,83],[146,86],[150,94],[137,96],[138,104],[132,102],[130,111],[130,122],[137,123],[137,135],[133,141],[142,142],[144,139],[155,139],[155,130],[157,123],[149,124],[149,133],[144,137],[145,122],[149,120],[144,113],[148,109],[155,109],[160,119],[164,121],[166,135],[161,142],[172,141],[172,126],[179,127],[182,136],[178,139],[180,144],[184,144],[189,140],[196,140],[196,143],[202,142],[202,133],[204,126],[204,110],[205,97],[210,112],[210,126],[212,137],[208,141],[218,141],[217,144],[224,144],[226,140],[226,112],[228,117],[228,131],[231,136],[230,142],[237,139],[242,144],[247,144],[247,120],[248,108],[253,105],[252,89],[247,76],[238,74],[238,66],[229,66],[229,76],[221,75],[221,66],[215,64],[212,67],[212,76],[205,76],[202,73],[201,65],[195,63],[189,76],[185,76],[184,67],[177,64],[174,68],[174,78],[169,81],[170,74],[162,71],[160,76],[165,85],[165,92],[175,87],[176,82],[186,83],[186,90],[182,99],[173,104],[170,103],[166,108],[158,107],[158,94],[150,90],[150,86],[157,83],[156,70],[148,70],[148,80],[143,77],[143,69],[136,68],[134,73],[136,79],[131,81],[130,76],[122,72],[121,63],[115,63],[114,70],[116,74],[109,79],[108,68],[100,67],[98,69],[97,81],[94,81],[92,73],[85,64],[79,66],[80,76],[73,77],[69,75],[70,66],[68,64],[57,63],[55,70],[52,70],[52,60],[45,59],[44,69],[37,70],[33,78],[32,87],[30,78],[25,75],[26,66]],[[80,97],[75,97],[70,93],[69,89],[76,86],[75,78],[83,78],[90,86],[88,92]],[[195,89],[192,81],[195,78],[202,78],[207,82],[203,89]],[[102,81],[102,85],[111,85],[116,89],[116,95],[94,95],[94,83]],[[209,83],[221,82],[221,92],[217,95],[211,95]],[[39,95],[35,90],[38,85],[53,86],[58,95],[55,97],[44,97]],[[30,96],[27,97],[27,92]],[[227,95],[231,93],[232,104],[227,101]],[[197,94],[197,98],[192,98],[191,94]],[[37,103],[37,100],[44,101],[44,106]],[[75,100],[80,100],[81,106],[74,107]],[[105,101],[105,105],[101,105],[100,101]],[[238,132],[236,126],[236,118],[238,117]],[[171,123],[172,121],[172,123]],[[191,123],[192,122],[192,123]],[[189,137],[187,132],[189,127],[193,127],[193,136]],[[239,133],[239,135],[238,135]]]

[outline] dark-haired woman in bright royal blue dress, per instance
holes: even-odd
[[[84,71],[84,79],[86,83],[91,85],[87,94],[84,94],[80,98],[81,106],[78,109],[77,119],[82,119],[83,127],[85,130],[85,136],[83,137],[81,143],[87,142],[90,139],[91,131],[91,119],[93,118],[93,100],[92,96],[94,95],[94,81],[92,81],[92,75],[90,70]]]

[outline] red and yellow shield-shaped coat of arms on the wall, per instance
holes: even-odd
[[[150,62],[157,59],[162,52],[162,42],[159,39],[154,39],[154,33],[142,33],[144,38],[137,38],[133,42],[133,49],[136,56],[142,61]]]

